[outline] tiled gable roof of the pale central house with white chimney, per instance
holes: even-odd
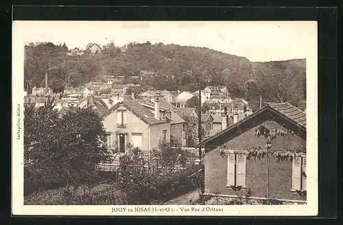
[[[138,101],[134,100],[128,100],[123,101],[122,103],[117,103],[116,105],[108,109],[108,111],[106,111],[103,117],[110,114],[110,112],[119,107],[119,105],[124,105],[126,108],[132,111],[133,114],[141,118],[144,122],[146,122],[149,125],[169,122],[169,120],[156,120],[154,113],[152,113],[150,109],[147,109],[147,107],[144,107]]]

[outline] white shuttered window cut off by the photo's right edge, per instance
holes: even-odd
[[[306,191],[306,157],[294,157],[292,191]]]

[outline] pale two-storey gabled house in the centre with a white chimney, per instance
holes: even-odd
[[[159,140],[170,140],[170,120],[161,114],[159,102],[154,103],[154,112],[138,101],[123,101],[110,107],[102,116],[107,134],[107,146],[126,151],[126,144],[141,148],[150,155],[158,148]]]

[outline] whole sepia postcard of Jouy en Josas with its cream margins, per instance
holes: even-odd
[[[21,213],[318,212],[316,22],[14,21],[13,51]]]

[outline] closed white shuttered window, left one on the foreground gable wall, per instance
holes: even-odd
[[[246,155],[228,153],[227,187],[246,187]]]

